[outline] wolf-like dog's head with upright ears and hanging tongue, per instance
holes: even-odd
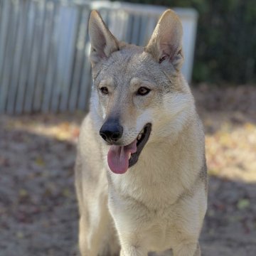
[[[91,110],[100,136],[111,145],[110,169],[124,173],[148,140],[165,140],[182,126],[193,101],[180,73],[181,21],[174,11],[164,12],[145,48],[117,41],[97,11],[90,15],[89,33]]]

